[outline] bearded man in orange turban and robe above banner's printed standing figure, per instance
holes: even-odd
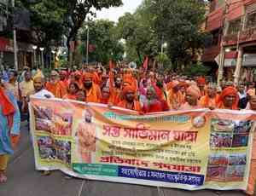
[[[102,93],[101,89],[97,84],[93,83],[93,74],[85,72],[83,77],[84,90],[87,102],[101,102]]]

